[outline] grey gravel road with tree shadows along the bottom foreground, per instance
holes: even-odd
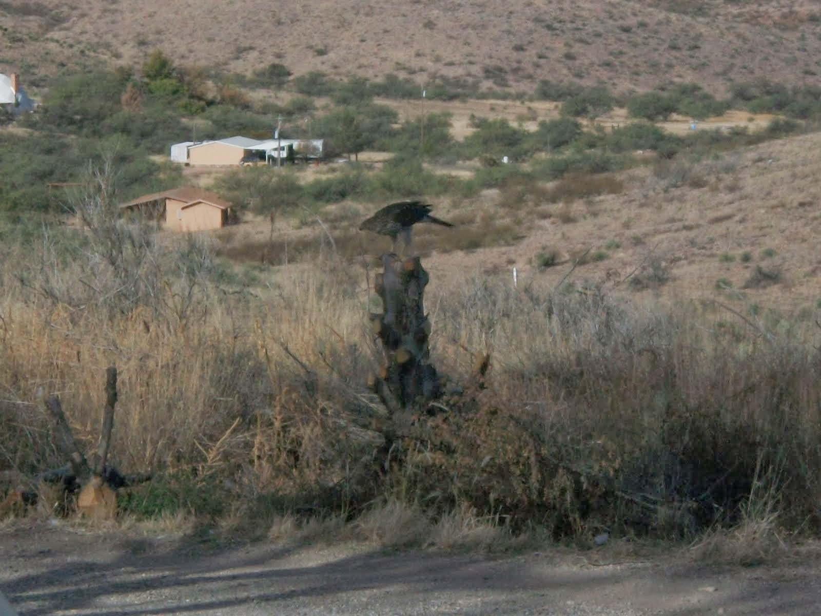
[[[214,546],[44,526],[0,532],[19,614],[747,614],[821,610],[821,563],[719,568],[601,553],[493,558],[364,546]],[[795,559],[797,560],[797,559]]]

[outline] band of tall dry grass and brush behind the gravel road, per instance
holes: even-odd
[[[331,258],[244,286],[190,238],[128,223],[108,243],[93,228],[34,235],[2,247],[0,470],[62,463],[50,393],[90,446],[117,365],[111,456],[154,471],[121,494],[140,517],[259,529],[400,503],[556,537],[696,536],[755,512],[786,531],[821,526],[814,326],[764,336],[718,306],[581,292],[572,278],[433,284],[438,370],[465,384],[475,352],[492,367],[483,387],[393,417],[365,388],[378,348],[362,269]]]

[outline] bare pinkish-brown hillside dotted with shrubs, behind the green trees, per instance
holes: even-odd
[[[45,85],[67,67],[140,62],[161,48],[175,62],[239,73],[280,62],[295,75],[394,72],[528,94],[543,79],[620,92],[682,80],[723,94],[762,77],[813,80],[819,20],[810,0],[8,0],[0,71]]]

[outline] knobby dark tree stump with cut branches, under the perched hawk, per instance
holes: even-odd
[[[374,291],[383,312],[370,313],[370,319],[386,363],[369,384],[388,411],[396,412],[438,398],[442,379],[429,361],[431,326],[424,314],[428,273],[419,257],[400,260],[388,253],[381,260],[383,272],[376,274]]]

